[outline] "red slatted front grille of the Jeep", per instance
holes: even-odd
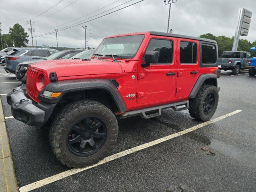
[[[36,88],[36,79],[39,73],[37,70],[28,68],[26,77],[26,86],[28,95],[35,101],[38,101],[39,91]]]

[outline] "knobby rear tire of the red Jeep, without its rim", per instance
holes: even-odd
[[[209,94],[214,95],[214,106],[210,114],[204,114],[204,101]],[[214,115],[218,106],[219,94],[216,86],[202,85],[195,98],[189,100],[189,114],[196,120],[208,121]]]

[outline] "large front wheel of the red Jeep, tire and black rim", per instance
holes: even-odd
[[[116,116],[106,106],[92,100],[66,106],[56,116],[49,132],[56,158],[74,168],[90,166],[105,158],[117,136]]]

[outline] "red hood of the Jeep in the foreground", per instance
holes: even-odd
[[[48,60],[35,63],[30,67],[44,72],[47,77],[50,77],[50,72],[55,72],[57,77],[122,73],[120,62],[98,59]]]

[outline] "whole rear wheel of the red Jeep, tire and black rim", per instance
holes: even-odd
[[[219,101],[216,86],[202,85],[195,98],[189,100],[189,114],[196,120],[208,121],[214,115]]]

